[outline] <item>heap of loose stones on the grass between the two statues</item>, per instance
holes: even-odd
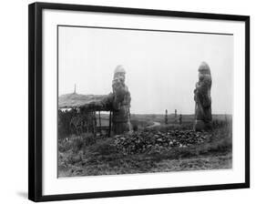
[[[207,132],[193,130],[144,130],[115,137],[115,146],[125,154],[138,154],[156,148],[186,148],[201,144],[210,135]]]

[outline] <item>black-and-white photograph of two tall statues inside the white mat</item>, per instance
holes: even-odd
[[[57,177],[232,168],[234,36],[57,26]]]

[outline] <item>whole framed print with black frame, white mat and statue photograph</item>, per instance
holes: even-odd
[[[250,187],[250,17],[29,5],[29,199]]]

